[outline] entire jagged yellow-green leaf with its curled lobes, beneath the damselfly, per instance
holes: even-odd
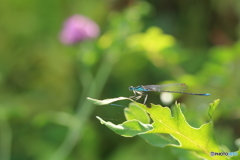
[[[95,100],[97,101],[97,100]],[[102,100],[103,102],[105,100]],[[109,100],[108,100],[109,101]],[[101,102],[101,100],[99,100]],[[214,136],[212,115],[219,103],[215,100],[209,106],[210,122],[202,124],[199,128],[194,128],[188,124],[181,111],[180,104],[175,104],[173,112],[168,107],[152,104],[146,107],[140,103],[131,103],[129,108],[124,110],[127,121],[122,124],[114,125],[105,122],[97,117],[100,122],[106,125],[115,133],[132,137],[139,135],[154,146],[179,147],[189,151],[195,151],[200,157],[206,159],[226,159],[226,157],[211,157],[210,152],[221,152],[220,147]],[[150,123],[147,113],[153,123]],[[163,134],[170,135],[169,137]],[[176,143],[177,140],[178,144]]]

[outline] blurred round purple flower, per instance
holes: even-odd
[[[82,15],[73,15],[64,22],[60,40],[64,44],[75,44],[98,35],[99,27],[94,21]]]

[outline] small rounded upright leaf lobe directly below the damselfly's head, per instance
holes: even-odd
[[[127,120],[139,120],[142,123],[150,123],[150,118],[146,111],[135,103],[130,103],[129,108],[124,109],[124,115]]]

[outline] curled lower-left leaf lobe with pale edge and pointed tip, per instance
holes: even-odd
[[[123,124],[115,125],[112,122],[105,122],[100,117],[97,117],[97,119],[99,119],[100,122],[106,125],[109,129],[124,137],[136,136],[153,129],[151,124],[143,124],[138,120],[130,120],[124,122]]]

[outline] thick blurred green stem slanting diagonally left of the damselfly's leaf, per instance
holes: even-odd
[[[111,72],[113,62],[108,61],[108,57],[102,61],[96,78],[91,83],[87,96],[96,98],[99,97]],[[84,100],[81,101],[83,98]],[[66,159],[66,157],[70,154],[74,146],[79,142],[81,136],[83,135],[85,127],[84,124],[87,122],[93,109],[94,105],[90,101],[86,100],[86,95],[83,94],[80,98],[78,110],[75,114],[76,118],[79,120],[79,123],[73,123],[71,126],[69,126],[69,131],[66,135],[66,138],[63,140],[62,144],[59,146],[56,152],[50,157],[50,160]]]

